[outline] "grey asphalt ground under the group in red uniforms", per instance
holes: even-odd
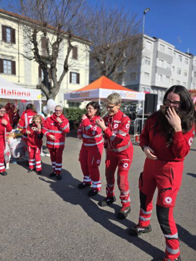
[[[174,211],[183,261],[196,260],[196,142],[185,160],[183,181]],[[138,177],[144,153],[134,145],[129,181],[131,213],[116,219],[117,201],[99,207],[105,197],[104,158],[100,166],[102,191],[89,198],[89,188],[78,190],[82,173],[78,162],[81,141],[66,138],[63,179],[49,178],[49,157],[42,157],[43,174],[27,173],[27,166],[10,164],[0,176],[0,260],[3,261],[151,261],[164,255],[165,243],[156,217],[156,195],[151,233],[131,237],[128,228],[138,221]],[[47,151],[45,149],[45,151]]]

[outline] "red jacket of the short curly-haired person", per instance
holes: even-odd
[[[43,133],[37,130],[33,130],[34,128],[37,128],[37,126],[34,123],[29,124],[27,130],[31,131],[31,134],[28,134],[28,141],[27,145],[33,148],[41,148],[42,146],[42,137]]]

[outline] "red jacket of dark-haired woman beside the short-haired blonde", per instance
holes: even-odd
[[[88,117],[88,115],[86,115]],[[103,142],[102,130],[95,122],[100,119],[99,116],[95,116],[93,119],[85,119],[80,123],[78,129],[78,135],[82,135],[83,144],[85,146],[97,146]]]

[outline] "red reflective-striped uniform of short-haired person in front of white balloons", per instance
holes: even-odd
[[[69,132],[69,122],[63,114],[59,116],[62,120],[62,124],[57,121],[56,117],[55,113],[53,113],[52,116],[45,120],[42,132],[47,137],[46,146],[50,152],[53,170],[57,175],[60,175],[63,150],[65,147],[65,133]],[[49,135],[54,135],[56,140],[50,139]]]

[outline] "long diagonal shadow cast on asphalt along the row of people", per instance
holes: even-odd
[[[51,170],[50,170],[51,169]],[[116,204],[112,204],[111,208],[114,209],[115,214],[108,211],[108,207],[106,208],[99,208],[98,204],[95,203],[91,197],[87,196],[88,191],[90,188],[85,188],[83,190],[79,190],[77,185],[81,183],[78,179],[74,178],[70,172],[65,169],[62,169],[62,176],[63,179],[58,181],[56,178],[51,178],[51,181],[45,180],[43,177],[49,176],[49,173],[52,172],[52,166],[42,163],[42,177],[39,179],[44,181],[50,185],[50,188],[61,196],[63,200],[69,202],[73,205],[80,205],[82,209],[88,214],[88,216],[93,219],[95,222],[100,224],[102,227],[106,228],[110,232],[114,233],[117,236],[120,236],[123,239],[126,239],[131,244],[135,245],[148,255],[152,256],[153,258],[161,257],[164,255],[164,252],[160,249],[152,246],[150,243],[146,242],[140,237],[131,237],[128,234],[128,228],[133,227],[135,224],[130,220],[118,220],[116,218],[117,212],[120,210],[120,206]],[[44,174],[47,173],[47,174]],[[81,175],[82,177],[82,175]],[[99,201],[102,200],[104,197],[97,195],[93,197],[94,200]],[[106,210],[107,209],[107,210]],[[126,226],[127,228],[121,228],[114,224],[112,221],[119,222],[122,225]],[[154,260],[154,259],[153,259]]]

